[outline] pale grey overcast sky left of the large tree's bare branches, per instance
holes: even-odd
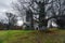
[[[0,0],[0,20],[6,18],[4,12],[11,10],[12,0]]]

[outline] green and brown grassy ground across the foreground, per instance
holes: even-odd
[[[1,30],[0,43],[65,43],[65,30]]]

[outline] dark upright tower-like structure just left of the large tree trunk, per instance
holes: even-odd
[[[28,26],[27,29],[34,30],[34,18],[32,18],[32,12],[31,11],[27,11],[26,13],[26,22],[28,22]]]

